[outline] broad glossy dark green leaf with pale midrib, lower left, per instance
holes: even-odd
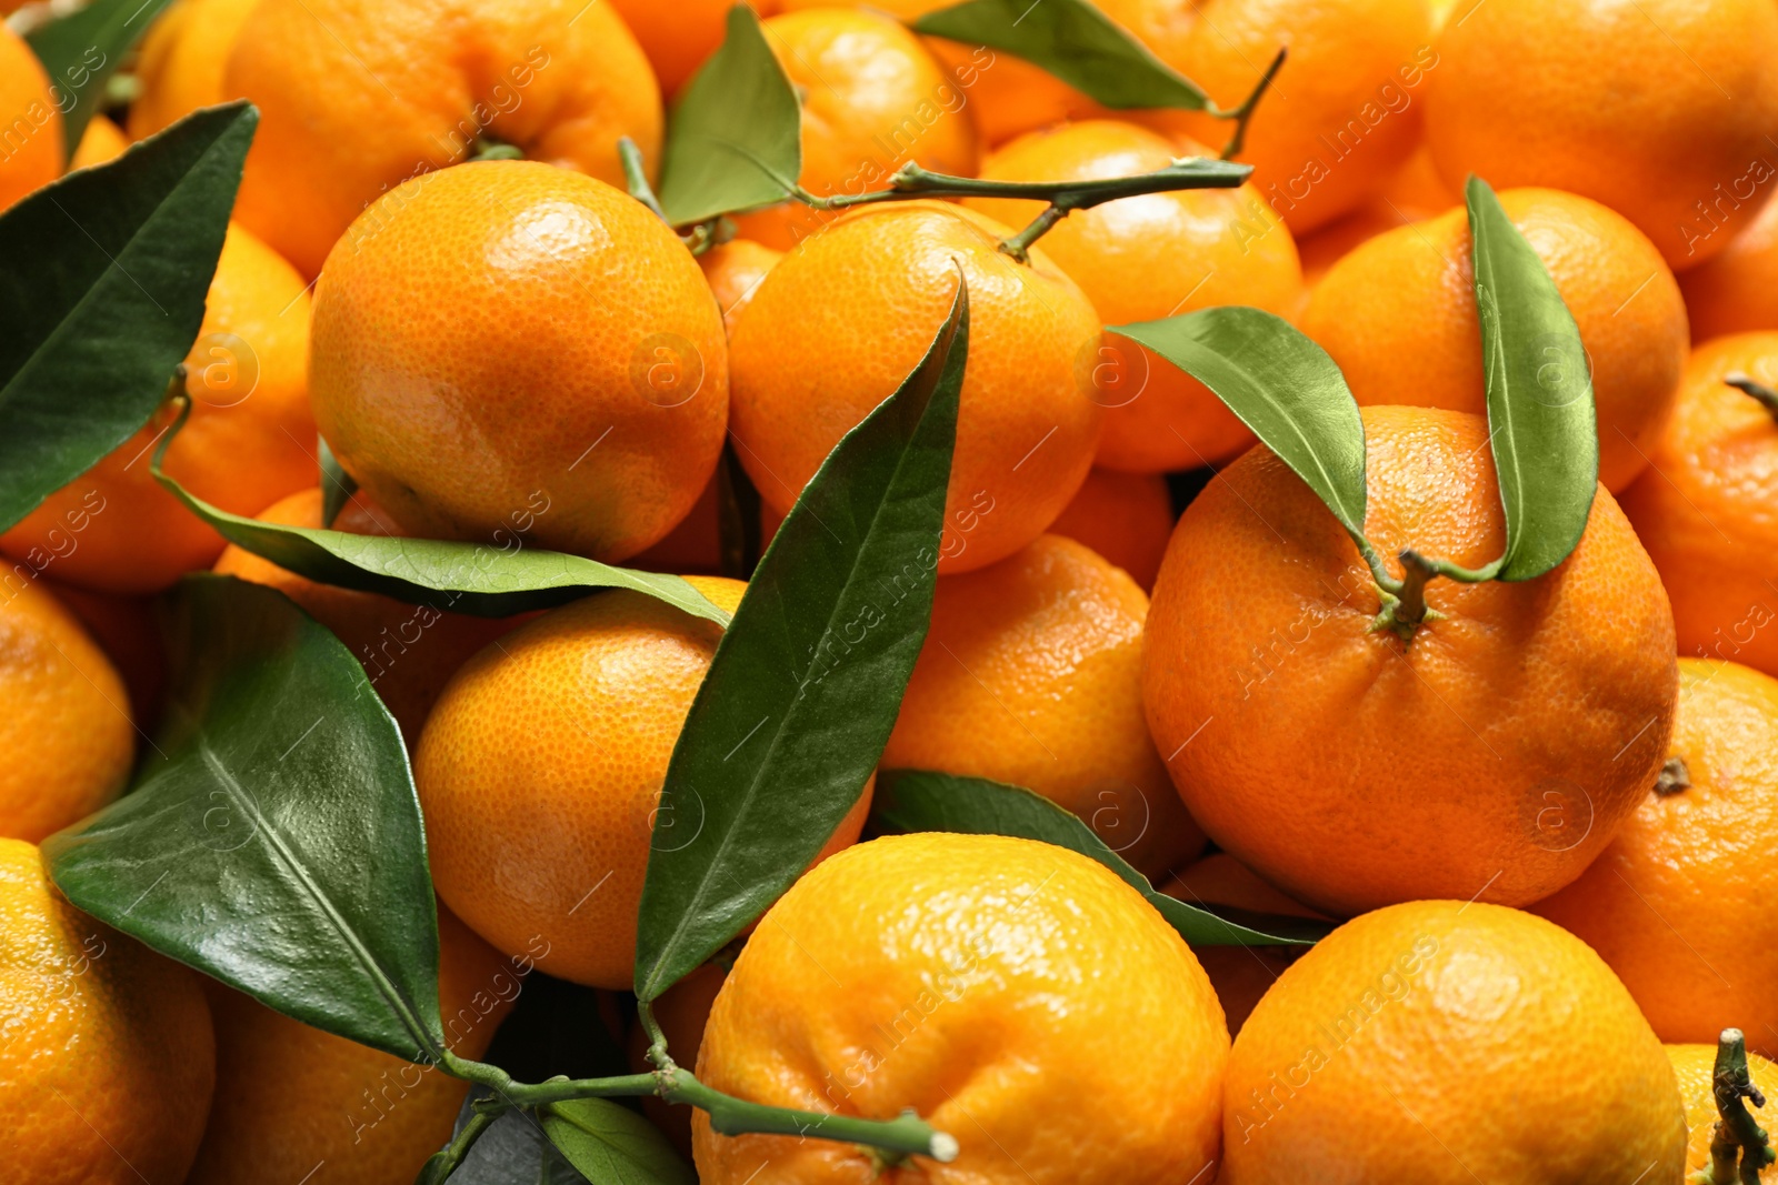
[[[283,593],[188,576],[181,657],[130,794],[43,844],[87,913],[297,1020],[443,1050],[437,917],[402,736]]]

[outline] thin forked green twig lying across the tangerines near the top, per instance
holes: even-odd
[[[1017,197],[1026,201],[1047,201],[1044,210],[1029,226],[1001,243],[1001,251],[1024,263],[1026,251],[1044,236],[1056,222],[1076,210],[1092,210],[1120,197],[1141,194],[1165,194],[1170,190],[1236,188],[1252,174],[1252,165],[1237,165],[1229,160],[1205,160],[1186,156],[1175,160],[1166,169],[1140,172],[1133,178],[1101,178],[1092,181],[985,181],[981,178],[958,178],[948,172],[932,172],[919,165],[903,165],[889,178],[889,188],[869,194],[836,194],[816,197],[800,185],[791,188],[791,197],[814,210],[850,210],[884,201],[914,201],[921,197]]]

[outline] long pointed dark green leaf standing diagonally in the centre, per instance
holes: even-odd
[[[777,901],[877,767],[932,616],[967,352],[958,279],[926,357],[829,453],[747,585],[654,815],[644,1000]]]

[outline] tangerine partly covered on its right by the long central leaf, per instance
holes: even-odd
[[[747,588],[688,579],[729,611]],[[523,954],[542,934],[551,975],[629,986],[661,782],[720,634],[610,592],[521,625],[444,688],[414,753],[432,879],[496,949]],[[829,851],[868,810],[866,787]]]

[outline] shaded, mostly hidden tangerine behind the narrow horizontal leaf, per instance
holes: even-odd
[[[258,515],[261,522],[318,528],[322,492],[297,490],[272,503]],[[363,494],[352,496],[332,521],[332,529],[354,535],[395,535],[389,521]],[[432,702],[459,666],[489,641],[512,629],[512,622],[443,613],[423,604],[407,604],[377,593],[318,585],[261,560],[233,544],[217,560],[215,570],[256,585],[270,585],[295,600],[316,622],[345,643],[370,675],[407,748],[420,743]]]

